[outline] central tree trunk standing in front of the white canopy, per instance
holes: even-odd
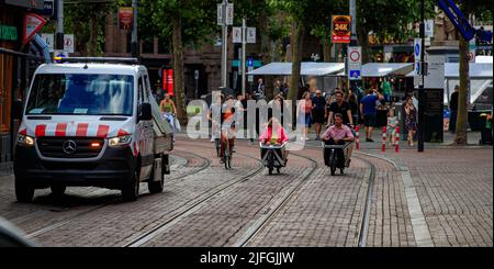
[[[304,25],[300,22],[292,22],[292,37],[290,46],[292,49],[292,76],[290,77],[290,91],[288,99],[292,100],[294,103],[296,101],[296,93],[300,86],[303,36]]]

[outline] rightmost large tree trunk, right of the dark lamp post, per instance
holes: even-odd
[[[469,100],[469,42],[460,35],[460,91],[458,94],[456,145],[467,145],[468,100]]]

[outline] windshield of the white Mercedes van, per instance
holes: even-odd
[[[26,114],[132,115],[133,89],[132,76],[38,74]]]

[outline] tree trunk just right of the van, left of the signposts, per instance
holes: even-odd
[[[177,119],[184,124],[187,122],[184,79],[183,79],[183,44],[182,44],[182,19],[180,14],[173,14],[172,25],[172,47],[173,47],[173,82],[175,103],[177,107]]]

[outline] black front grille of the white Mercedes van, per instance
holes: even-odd
[[[74,142],[74,144],[71,143]],[[76,137],[40,137],[37,148],[44,157],[48,158],[94,158],[104,145],[102,138]],[[91,147],[91,143],[99,143],[99,147]],[[74,150],[64,150],[64,144],[75,145]]]

